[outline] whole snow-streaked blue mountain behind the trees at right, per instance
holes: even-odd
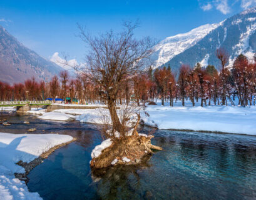
[[[155,46],[154,68],[170,65],[177,70],[181,64],[203,66],[212,64],[218,68],[216,49],[223,47],[230,55],[232,66],[238,54],[249,59],[256,52],[256,8],[229,17],[218,24],[207,24],[190,32],[167,37]]]

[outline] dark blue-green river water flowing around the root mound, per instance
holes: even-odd
[[[43,199],[256,199],[255,136],[158,130],[152,143],[164,151],[141,166],[111,168],[99,178],[89,166],[91,150],[101,143],[99,126],[33,116],[8,121],[12,125],[0,125],[0,132],[37,128],[35,133],[78,138],[29,173],[29,191]]]

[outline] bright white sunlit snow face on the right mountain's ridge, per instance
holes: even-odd
[[[221,26],[222,22],[218,24],[206,24],[193,29],[190,32],[177,34],[176,36],[167,37],[155,46],[155,53],[153,57],[156,58],[153,69],[158,68],[162,64],[167,63],[186,49],[197,44],[198,41],[207,36],[208,33]]]

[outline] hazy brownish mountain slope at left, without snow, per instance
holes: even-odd
[[[49,80],[61,67],[23,46],[0,26],[0,81],[19,83],[28,78]]]

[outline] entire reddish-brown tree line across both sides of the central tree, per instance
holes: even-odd
[[[235,105],[234,99],[238,98],[238,105],[255,105],[256,93],[256,58],[250,63],[248,58],[240,54],[233,63],[231,69],[226,68],[228,54],[223,49],[216,52],[220,60],[220,69],[208,65],[203,68],[197,63],[194,68],[182,64],[178,73],[174,73],[170,66],[161,69],[149,68],[139,74],[126,77],[121,87],[116,91],[116,103],[129,104],[135,101],[138,105],[150,102],[154,104],[161,99],[161,104],[169,102],[173,106],[174,101],[190,100],[192,105],[200,101],[201,106],[227,105],[228,101]],[[108,88],[111,91],[111,88]],[[83,74],[77,74],[76,78],[69,75],[68,71],[62,71],[59,76],[54,76],[51,81],[36,81],[28,79],[24,83],[13,84],[0,82],[0,101],[24,101],[44,100],[46,98],[69,97],[79,99],[79,103],[106,103],[101,99],[104,88],[96,81]]]

